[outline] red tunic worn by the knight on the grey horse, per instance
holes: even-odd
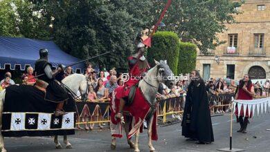
[[[129,61],[129,79],[127,79],[127,82],[125,82],[123,89],[121,89],[122,93],[120,94],[120,97],[122,98],[128,97],[130,88],[137,84],[142,78],[142,74],[145,73],[148,68],[150,68],[146,59],[144,61],[141,61],[140,59],[132,56],[128,57],[127,59]],[[131,62],[135,62],[135,64],[130,64]]]

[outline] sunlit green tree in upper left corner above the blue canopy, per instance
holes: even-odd
[[[49,39],[50,19],[45,19],[30,1],[0,1],[0,35]]]

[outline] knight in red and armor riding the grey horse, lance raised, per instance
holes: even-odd
[[[119,112],[116,114],[116,118],[123,120],[123,108],[127,104],[129,105],[129,92],[132,86],[138,84],[140,79],[138,77],[143,77],[147,70],[150,68],[147,59],[145,59],[145,45],[142,43],[141,37],[137,37],[136,53],[128,57],[129,64],[129,79],[125,82],[123,86],[123,91],[120,93],[120,107]],[[134,90],[133,90],[134,91]]]

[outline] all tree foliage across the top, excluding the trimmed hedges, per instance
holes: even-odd
[[[126,58],[134,50],[138,31],[156,23],[166,2],[2,0],[0,35],[53,39],[66,53],[81,59],[111,51],[93,62],[127,68]],[[231,0],[174,0],[163,19],[164,28],[206,53],[222,43],[216,33],[225,30],[225,23],[234,22],[239,6],[240,2]]]

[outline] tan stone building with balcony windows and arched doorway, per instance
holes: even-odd
[[[270,0],[246,0],[236,15],[238,23],[228,24],[217,34],[226,44],[209,50],[210,55],[197,53],[196,68],[204,79],[227,77],[242,79],[270,78]]]

